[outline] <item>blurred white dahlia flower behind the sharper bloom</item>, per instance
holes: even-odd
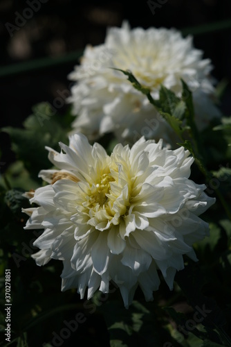
[[[209,59],[194,49],[192,37],[183,38],[174,29],[109,28],[104,44],[86,46],[81,64],[69,74],[72,81],[73,133],[82,132],[89,139],[113,132],[120,142],[133,144],[146,138],[163,138],[174,146],[174,135],[166,121],[158,114],[147,97],[127,81],[120,71],[129,69],[138,81],[151,89],[158,99],[163,84],[181,96],[181,78],[190,87],[194,97],[196,124],[205,128],[220,112],[214,105],[214,87]],[[176,144],[176,140],[175,140]]]

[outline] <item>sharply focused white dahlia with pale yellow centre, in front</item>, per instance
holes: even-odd
[[[109,292],[113,280],[128,307],[138,285],[153,299],[160,285],[158,271],[172,289],[183,255],[193,260],[194,242],[208,235],[198,217],[214,203],[205,185],[189,180],[193,158],[180,147],[140,138],[131,149],[118,144],[111,156],[82,134],[49,151],[58,169],[42,170],[49,185],[35,190],[25,209],[25,229],[44,229],[34,242],[38,265],[62,260],[62,291],[77,288],[81,298],[97,289]]]

